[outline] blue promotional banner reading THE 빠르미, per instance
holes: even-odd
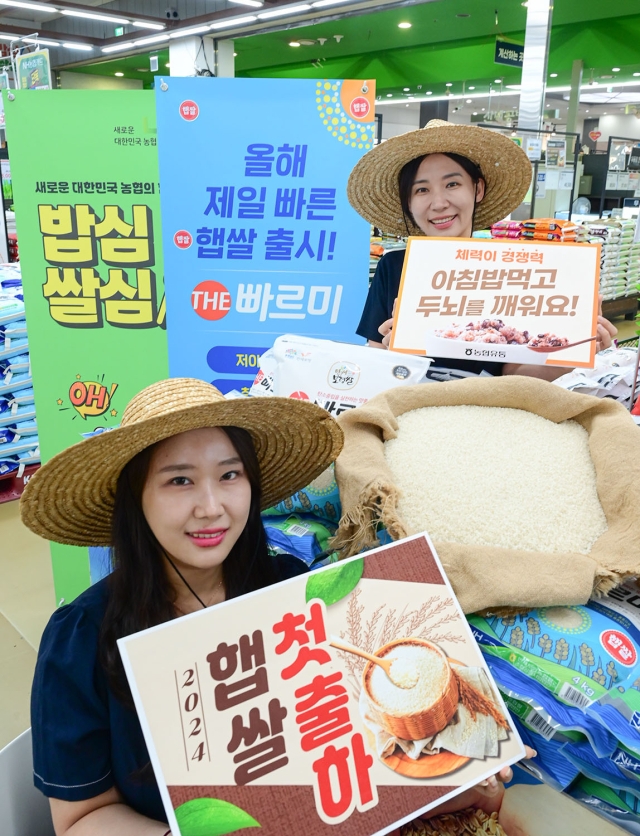
[[[372,82],[156,84],[169,371],[248,391],[281,334],[361,342],[369,224],[346,194]]]

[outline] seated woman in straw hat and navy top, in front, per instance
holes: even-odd
[[[208,383],[161,381],[118,429],[51,459],[22,519],[42,537],[113,549],[114,572],[61,607],[32,692],[35,784],[56,834],[162,836],[158,786],[116,642],[300,574],[271,558],[260,511],[315,479],[342,447],[320,407],[227,401]]]

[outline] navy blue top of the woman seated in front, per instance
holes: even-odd
[[[278,580],[307,571],[290,555],[275,559]],[[97,658],[107,581],[56,610],[44,631],[31,692],[34,783],[64,801],[115,786],[136,812],[165,822],[138,715],[111,691]],[[144,777],[135,774],[144,767]]]

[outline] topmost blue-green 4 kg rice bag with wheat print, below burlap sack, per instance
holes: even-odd
[[[596,721],[640,755],[640,589],[635,582],[584,606],[502,618],[473,615],[469,621],[487,658],[500,660],[494,673],[499,681],[515,681],[514,690],[526,694],[528,680],[583,712],[583,731]],[[551,704],[545,707],[554,714]]]

